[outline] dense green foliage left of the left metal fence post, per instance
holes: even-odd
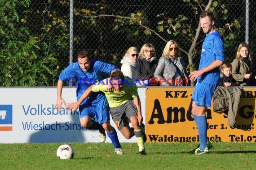
[[[54,51],[54,46],[64,45],[56,40],[68,38],[68,34],[63,35],[66,24],[53,13],[49,15],[52,22],[46,23],[43,27],[45,32],[39,30],[37,33],[40,34],[31,33],[33,25],[29,17],[36,16],[37,13],[33,10],[17,12],[17,8],[26,9],[29,4],[30,0],[12,0],[6,1],[0,8],[0,68],[3,73],[1,86],[51,86],[57,82],[59,66],[55,56],[58,54],[49,51]],[[42,41],[52,34],[53,28],[57,29],[60,26],[62,34],[55,36],[57,39],[53,37],[53,42],[56,41],[54,45]]]

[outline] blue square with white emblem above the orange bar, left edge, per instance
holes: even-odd
[[[0,124],[13,124],[13,105],[0,105]]]

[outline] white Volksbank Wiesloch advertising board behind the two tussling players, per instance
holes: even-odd
[[[145,121],[146,89],[138,88],[138,93]],[[0,96],[0,143],[100,142],[98,131],[81,127],[78,111],[67,112],[64,105],[57,110],[56,87],[2,87]],[[75,102],[76,89],[64,87],[62,98]],[[115,127],[111,118],[110,123]],[[117,132],[120,142],[136,142]],[[111,142],[108,137],[106,142]]]

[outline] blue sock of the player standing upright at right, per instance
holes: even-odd
[[[207,147],[207,120],[206,116],[195,116],[195,121],[198,128],[198,134],[199,134],[199,142],[200,147],[199,149],[203,151]]]

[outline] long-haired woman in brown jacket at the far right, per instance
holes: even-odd
[[[252,58],[247,43],[238,46],[236,58],[232,62],[232,76],[241,86],[254,86],[256,77],[252,75]]]

